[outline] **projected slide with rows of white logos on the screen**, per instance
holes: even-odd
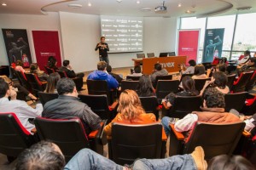
[[[143,51],[143,18],[101,16],[102,36],[109,53]]]

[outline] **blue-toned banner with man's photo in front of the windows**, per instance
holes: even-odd
[[[216,57],[221,58],[224,28],[207,29],[205,35],[202,63],[212,63]]]

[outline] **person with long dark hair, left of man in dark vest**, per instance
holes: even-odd
[[[58,72],[50,73],[49,77],[47,78],[47,84],[44,92],[48,94],[57,94],[58,92],[56,89],[56,85],[60,79],[61,79],[61,76],[59,75]]]

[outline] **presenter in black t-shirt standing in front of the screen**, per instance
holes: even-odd
[[[101,42],[97,43],[95,50],[99,49],[100,61],[105,61],[109,65],[108,59],[108,43],[105,42],[105,37],[101,37]]]

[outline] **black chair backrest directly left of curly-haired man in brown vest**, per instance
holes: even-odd
[[[182,119],[192,111],[201,111],[202,101],[200,95],[176,96],[169,116]]]

